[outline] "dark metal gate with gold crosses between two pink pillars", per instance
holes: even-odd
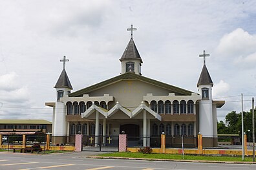
[[[83,136],[83,151],[117,152],[119,136]]]

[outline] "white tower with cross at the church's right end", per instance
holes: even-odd
[[[212,87],[213,81],[209,75],[208,69],[206,67],[206,57],[209,54],[200,54],[200,57],[204,58],[204,66],[202,68],[200,78],[197,83],[198,91],[202,96],[199,101],[199,131],[204,138],[204,146],[214,146],[215,138],[217,139],[217,134],[215,134],[215,120],[217,120],[217,115],[213,112],[213,98],[212,98]]]

